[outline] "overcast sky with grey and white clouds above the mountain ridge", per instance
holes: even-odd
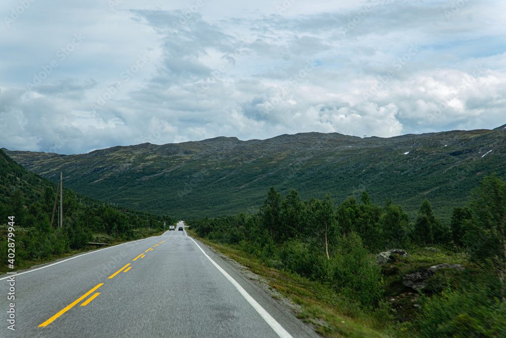
[[[506,123],[503,0],[3,0],[0,147]]]

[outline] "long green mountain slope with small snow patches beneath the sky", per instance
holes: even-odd
[[[110,203],[181,218],[256,212],[270,186],[304,199],[330,193],[336,203],[367,191],[393,199],[414,217],[428,198],[448,220],[484,175],[506,174],[506,132],[451,131],[392,138],[338,133],[241,141],[116,146],[89,154],[7,151],[53,181],[63,171],[75,191]]]

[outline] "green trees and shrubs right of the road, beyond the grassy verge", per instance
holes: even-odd
[[[491,175],[448,223],[427,199],[411,221],[401,206],[374,204],[366,192],[334,205],[331,196],[303,201],[271,187],[254,214],[188,224],[204,239],[330,286],[399,336],[498,337],[506,336],[505,216],[506,182]],[[378,264],[378,253],[393,248],[412,254]],[[404,275],[448,262],[458,262],[458,271],[436,271],[424,290],[402,285]],[[418,308],[394,302],[412,293]]]

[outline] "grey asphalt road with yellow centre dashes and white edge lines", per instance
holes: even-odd
[[[0,276],[0,337],[317,336],[177,228],[18,273],[15,282]]]

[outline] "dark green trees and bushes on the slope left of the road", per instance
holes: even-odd
[[[18,268],[92,248],[89,242],[112,244],[143,238],[163,230],[163,221],[167,229],[176,222],[169,216],[109,205],[64,186],[63,227],[58,227],[58,211],[51,226],[56,191],[57,184],[26,171],[0,150],[0,261],[8,259],[11,216]],[[0,266],[0,272],[6,269],[6,264]]]

